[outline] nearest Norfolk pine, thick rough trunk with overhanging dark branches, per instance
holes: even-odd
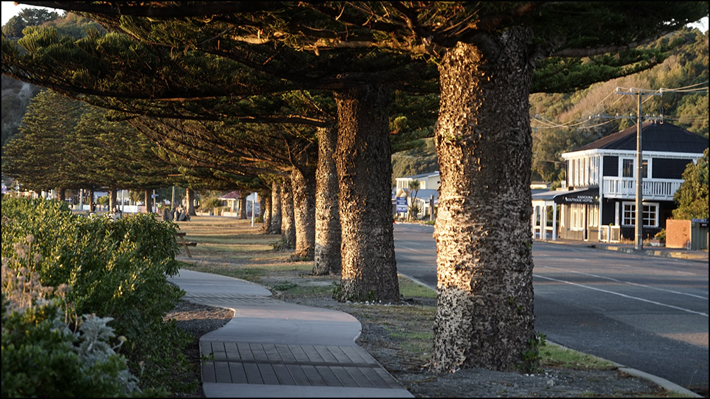
[[[64,4],[63,8],[70,7]],[[380,80],[360,75],[368,78],[365,84],[336,91],[341,124],[360,120],[357,116],[365,113],[374,116],[368,132],[353,131],[356,138],[346,140],[355,143],[352,153],[366,147],[357,143],[376,143],[387,131],[374,127],[386,121],[381,116],[386,104],[379,100],[386,92],[383,83],[388,82],[383,80],[386,58],[356,58],[362,54],[358,50],[379,48],[378,55],[386,51],[413,55],[438,66],[441,103],[435,141],[442,185],[435,230],[439,299],[432,368],[439,372],[474,366],[514,368],[523,365],[524,352],[534,349],[530,92],[572,90],[651,67],[662,53],[634,50],[638,45],[707,15],[706,2],[681,1],[219,4],[207,4],[214,20],[251,28],[232,38],[263,38],[316,55],[329,51],[343,55],[343,48],[349,48],[354,60],[350,65],[368,60],[379,67]],[[153,18],[160,13],[185,16],[195,15],[200,5],[185,3],[168,11],[125,7],[121,12],[152,13]],[[75,6],[105,11],[104,15],[113,12],[102,4]],[[160,41],[157,35],[144,39]],[[209,44],[214,51],[227,41]],[[322,71],[318,68],[322,59],[312,58],[310,71]],[[7,73],[5,65],[4,46]],[[315,77],[303,69],[297,72],[303,75],[292,73],[291,82]],[[398,72],[399,78],[410,77]],[[320,76],[322,84],[338,84],[327,77]],[[372,148],[372,157],[387,155],[378,144]],[[357,165],[340,165],[347,168],[339,169],[341,195],[344,184],[358,190],[356,181],[348,180],[360,171]],[[348,212],[341,209],[341,216]],[[370,226],[384,228],[381,222]],[[345,224],[343,231],[344,238],[350,234]],[[345,270],[345,258],[343,266]]]

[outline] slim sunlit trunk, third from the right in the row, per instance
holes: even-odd
[[[338,175],[335,168],[334,128],[318,131],[318,167],[315,172],[315,257],[314,275],[340,273],[340,216]]]

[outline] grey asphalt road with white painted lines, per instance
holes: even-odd
[[[436,287],[434,228],[395,224],[400,273]],[[535,242],[535,328],[680,386],[708,383],[708,264]]]

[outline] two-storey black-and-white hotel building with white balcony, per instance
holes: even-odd
[[[563,188],[532,195],[535,238],[634,239],[636,130],[632,126],[562,154],[567,174]],[[643,236],[652,237],[672,216],[682,174],[708,148],[708,139],[661,122],[643,124],[642,137]],[[547,222],[550,207],[552,221]]]

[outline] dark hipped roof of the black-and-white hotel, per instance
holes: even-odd
[[[667,122],[647,122],[641,125],[641,135],[643,151],[701,154],[708,148],[707,138]],[[600,138],[575,151],[594,149],[636,151],[636,126]]]

